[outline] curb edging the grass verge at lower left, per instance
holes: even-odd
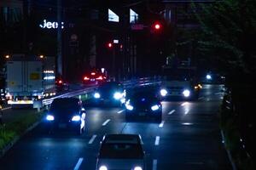
[[[1,150],[0,158],[2,158],[6,154],[6,152],[10,150],[26,133],[32,131],[34,127],[37,127],[39,123],[40,121],[33,123],[32,126],[28,127],[24,133],[20,134],[20,136],[15,137],[15,139],[13,139],[9,144],[7,144],[3,148],[3,150]]]

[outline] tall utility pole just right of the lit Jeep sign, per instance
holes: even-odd
[[[62,37],[61,37],[61,0],[57,0],[57,73],[62,76]]]

